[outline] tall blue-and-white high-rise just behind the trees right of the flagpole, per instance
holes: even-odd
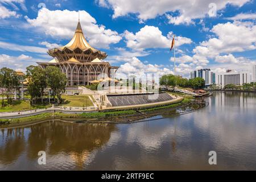
[[[190,73],[191,78],[200,77],[205,80],[205,85],[215,84],[215,73],[210,69],[199,69]]]

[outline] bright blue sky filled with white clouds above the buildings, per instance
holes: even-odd
[[[0,68],[52,60],[47,50],[71,40],[79,14],[86,40],[119,77],[173,74],[174,35],[176,75],[256,64],[255,0],[0,0]]]

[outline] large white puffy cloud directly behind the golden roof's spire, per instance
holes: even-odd
[[[27,16],[26,18],[31,26],[38,27],[38,30],[43,30],[53,38],[71,39],[75,33],[78,16],[77,11],[51,11],[43,8],[39,10],[36,19],[30,19]],[[80,22],[85,37],[93,47],[109,48],[109,44],[118,43],[122,39],[118,32],[97,24],[96,19],[86,11],[80,11]]]

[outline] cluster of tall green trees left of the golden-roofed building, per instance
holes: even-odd
[[[20,86],[20,82],[27,78],[27,90],[31,96],[32,104],[38,102],[41,98],[43,104],[45,89],[51,88],[54,101],[57,97],[57,103],[61,102],[61,93],[65,92],[67,85],[67,77],[57,67],[41,67],[30,65],[26,68],[26,76],[18,76],[13,69],[1,68],[0,69],[0,87],[2,88],[2,107],[5,106],[5,97],[7,104],[13,104],[14,91]]]

